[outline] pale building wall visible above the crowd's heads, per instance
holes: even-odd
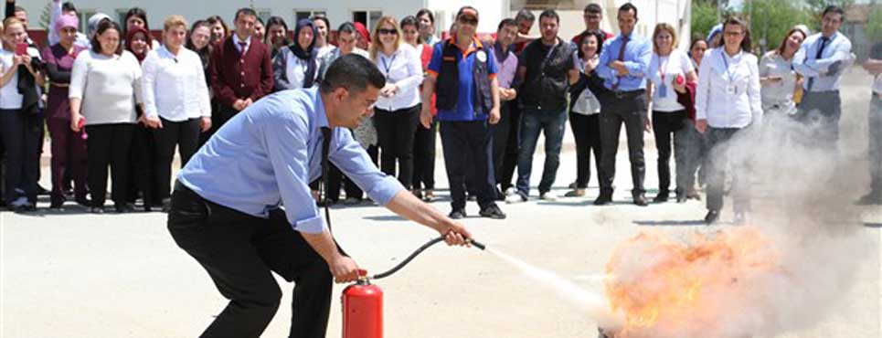
[[[24,5],[28,11],[31,20],[31,28],[38,28],[39,17],[45,5],[49,0],[19,0],[19,5]],[[527,4],[530,1],[512,1],[512,0],[486,0],[486,1],[468,1],[468,0],[395,0],[395,1],[364,1],[364,0],[253,0],[248,1],[207,1],[207,0],[150,0],[150,1],[132,1],[132,0],[74,0],[80,13],[84,17],[88,17],[95,12],[103,12],[114,18],[122,20],[122,15],[131,6],[141,6],[147,11],[149,25],[154,29],[161,29],[165,16],[179,14],[186,17],[190,22],[207,16],[219,15],[227,21],[228,25],[232,25],[233,15],[240,6],[253,4],[258,10],[260,16],[282,16],[289,26],[293,26],[295,21],[295,11],[315,11],[324,12],[331,20],[331,28],[334,29],[345,21],[353,20],[355,11],[378,11],[383,16],[390,15],[396,18],[414,15],[420,8],[431,8],[436,14],[436,31],[446,31],[453,22],[456,11],[462,5],[473,5],[480,13],[480,23],[478,31],[482,33],[493,33],[496,26],[505,17],[514,17],[520,9],[517,6]],[[604,20],[602,28],[604,30],[616,33],[618,26],[616,23],[616,12],[625,0],[590,0],[573,3],[569,9],[560,10],[558,14],[561,18],[560,36],[573,37],[584,29],[582,21],[583,4],[595,2],[600,4],[604,9]],[[640,20],[637,24],[637,33],[643,36],[650,36],[656,22],[668,22],[674,24],[679,29],[681,37],[681,48],[688,48],[689,37],[689,17],[688,9],[691,0],[634,0],[632,4],[638,8],[638,16]],[[546,1],[547,3],[547,1]],[[536,16],[541,12],[534,11]],[[377,16],[378,17],[378,16]],[[85,22],[85,19],[82,20]],[[84,23],[83,23],[84,24]],[[531,32],[538,35],[538,25],[533,27]],[[684,45],[686,45],[684,47]]]

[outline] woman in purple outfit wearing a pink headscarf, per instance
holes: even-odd
[[[70,104],[68,87],[73,62],[86,48],[75,44],[77,16],[62,15],[55,21],[58,43],[43,49],[43,59],[49,79],[49,92],[46,110],[46,124],[52,139],[52,193],[49,208],[58,209],[64,205],[64,177],[73,178],[75,200],[87,206],[86,194],[86,140],[82,131],[70,130]]]

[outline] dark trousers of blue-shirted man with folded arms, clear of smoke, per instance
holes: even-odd
[[[631,160],[632,195],[643,195],[643,177],[646,163],[643,158],[643,122],[646,121],[646,97],[644,90],[613,94],[604,100],[600,108],[600,147],[602,174],[600,194],[612,195],[615,180],[615,158],[619,151],[619,133],[622,124],[628,135],[628,155]]]

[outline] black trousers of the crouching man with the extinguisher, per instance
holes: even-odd
[[[253,217],[177,184],[168,231],[229,300],[201,337],[259,337],[282,299],[272,272],[295,283],[290,337],[325,337],[331,271],[281,209],[272,210],[269,218]]]

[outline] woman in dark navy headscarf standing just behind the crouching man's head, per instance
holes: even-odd
[[[315,50],[315,26],[303,19],[294,28],[294,43],[279,49],[272,60],[276,90],[310,88],[318,79],[319,60]]]

